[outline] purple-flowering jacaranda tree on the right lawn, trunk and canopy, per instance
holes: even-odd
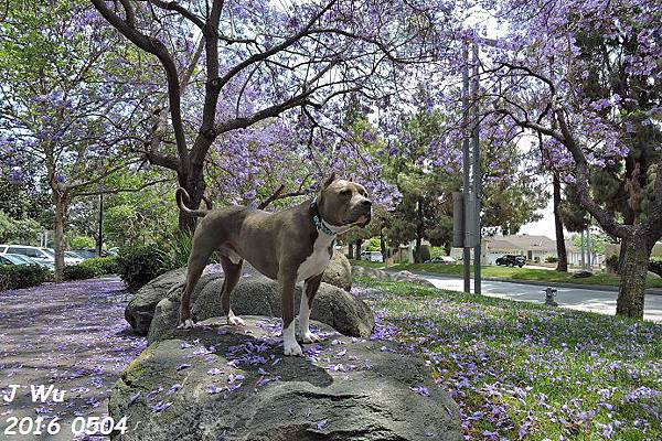
[[[496,40],[467,33],[483,49],[482,121],[513,136],[542,136],[552,170],[621,240],[617,313],[642,318],[648,261],[662,237],[660,4],[487,7],[508,30]]]

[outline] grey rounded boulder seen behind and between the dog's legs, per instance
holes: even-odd
[[[191,315],[195,321],[224,315],[221,306],[223,279],[211,280],[191,295]],[[295,308],[299,308],[302,286],[295,291]],[[177,327],[181,292],[173,291],[156,308],[149,329],[148,342],[162,338]],[[282,301],[278,282],[261,275],[244,275],[231,295],[231,306],[237,315],[282,315]],[[322,282],[314,297],[312,320],[327,323],[345,335],[367,337],[375,326],[370,306],[346,291]]]

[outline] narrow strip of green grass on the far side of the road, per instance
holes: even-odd
[[[407,271],[424,271],[438,275],[462,275],[462,265],[441,265],[441,263],[396,263],[386,267],[381,262],[370,262],[365,260],[351,260],[352,265],[371,267],[371,268],[385,268],[393,270],[407,270]],[[585,283],[585,284],[608,284],[618,287],[620,278],[616,275],[609,275],[606,272],[597,272],[591,277],[573,279],[568,272],[558,272],[546,269],[531,269],[531,268],[511,268],[511,267],[496,267],[493,265],[485,265],[482,267],[483,277],[502,277],[513,280],[532,280],[532,281],[545,281],[545,282],[568,282],[568,283]],[[662,288],[662,279],[654,279],[649,277],[649,288]]]

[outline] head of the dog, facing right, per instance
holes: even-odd
[[[318,204],[322,218],[335,227],[365,227],[372,217],[372,202],[365,187],[339,179],[335,173],[322,183]]]

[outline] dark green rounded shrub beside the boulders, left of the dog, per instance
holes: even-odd
[[[166,256],[156,245],[121,248],[117,257],[119,276],[129,289],[137,290],[170,269],[163,265]]]

